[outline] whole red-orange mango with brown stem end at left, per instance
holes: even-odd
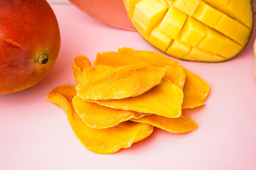
[[[58,21],[46,0],[0,0],[0,94],[37,84],[59,51]]]

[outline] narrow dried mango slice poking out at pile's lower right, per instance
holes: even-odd
[[[146,123],[168,132],[182,133],[197,130],[198,125],[194,120],[181,115],[179,118],[166,118],[160,115],[149,115],[139,119],[132,119],[137,123]]]

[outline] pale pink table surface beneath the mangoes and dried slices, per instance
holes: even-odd
[[[57,62],[36,86],[0,96],[0,169],[256,169],[255,32],[245,51],[229,62],[179,61],[210,84],[206,105],[184,113],[198,123],[196,132],[155,128],[129,149],[100,155],[80,144],[65,113],[46,94],[55,86],[75,84],[71,62],[76,55],[93,61],[97,52],[118,47],[159,51],[138,33],[107,26],[74,6],[52,7],[62,36]]]

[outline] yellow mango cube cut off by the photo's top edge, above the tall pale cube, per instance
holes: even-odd
[[[192,16],[199,3],[199,0],[176,0],[174,1],[174,6],[186,13],[188,16]]]

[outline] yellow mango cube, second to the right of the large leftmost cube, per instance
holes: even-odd
[[[206,35],[203,23],[188,16],[186,23],[184,24],[180,36],[183,42],[187,42],[189,45],[196,46],[200,40]]]

